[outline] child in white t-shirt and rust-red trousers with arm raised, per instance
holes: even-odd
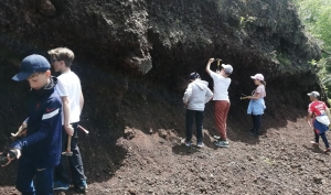
[[[228,99],[228,86],[231,84],[231,78],[228,76],[233,72],[232,65],[222,64],[222,69],[217,71],[216,73],[211,71],[211,63],[215,59],[210,58],[205,71],[214,80],[214,97],[213,100],[215,101],[215,122],[218,129],[220,136],[216,137],[217,141],[215,142],[216,147],[228,147],[227,136],[226,136],[226,119],[227,112],[229,110],[229,99]]]

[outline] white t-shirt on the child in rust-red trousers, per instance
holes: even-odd
[[[213,100],[228,100],[228,86],[231,78],[224,77],[211,71],[211,77],[214,80],[214,97]]]

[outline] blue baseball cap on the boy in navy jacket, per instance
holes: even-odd
[[[12,79],[22,82],[29,78],[33,73],[42,73],[49,69],[51,69],[51,64],[44,56],[32,54],[23,58],[20,73],[13,76]]]

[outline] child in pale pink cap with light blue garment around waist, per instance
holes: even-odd
[[[257,88],[253,91],[253,96],[245,97],[250,99],[247,113],[252,116],[253,129],[249,130],[249,134],[253,137],[258,137],[260,128],[260,117],[266,109],[264,97],[266,97],[266,82],[265,77],[261,74],[256,74],[250,76],[254,79],[254,84],[257,85]]]

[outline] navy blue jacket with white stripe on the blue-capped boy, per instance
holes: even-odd
[[[10,147],[22,151],[22,156],[39,169],[60,163],[62,137],[62,101],[55,90],[57,78],[40,90],[31,90],[26,137]]]

